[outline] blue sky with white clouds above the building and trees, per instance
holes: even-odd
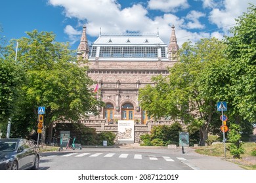
[[[1,0],[1,37],[26,37],[26,31],[52,31],[58,42],[76,49],[83,24],[89,43],[100,32],[157,33],[169,44],[175,25],[179,46],[200,38],[229,35],[235,18],[256,0]]]

